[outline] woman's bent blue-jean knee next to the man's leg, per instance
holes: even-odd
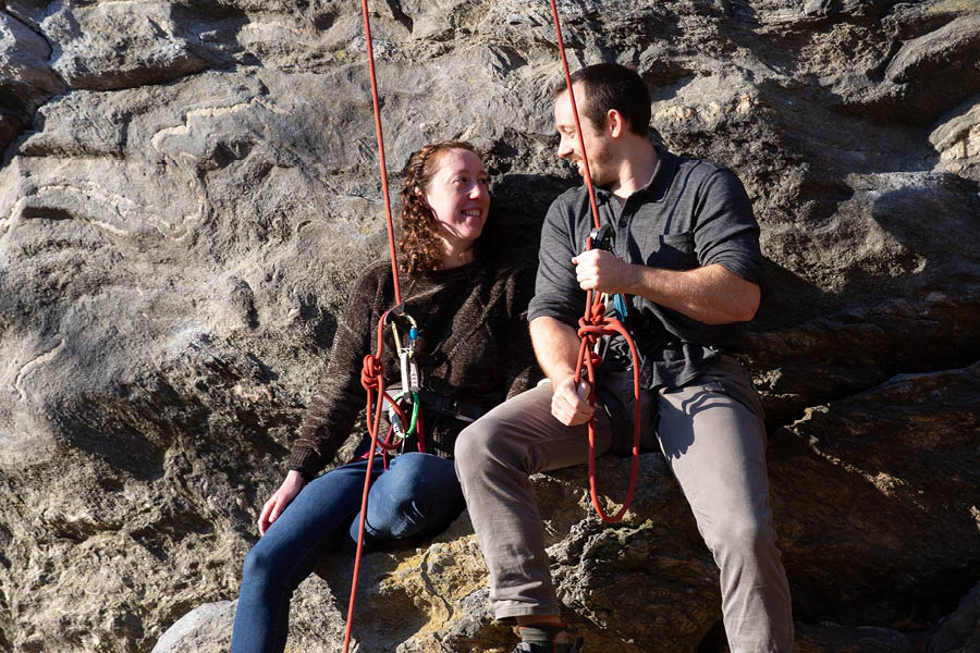
[[[394,458],[371,486],[365,519],[365,545],[394,538],[433,537],[466,506],[452,460],[412,452]],[[359,516],[351,522],[346,545],[356,546]]]

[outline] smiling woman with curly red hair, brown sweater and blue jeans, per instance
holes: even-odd
[[[437,143],[413,155],[401,204],[400,248],[407,272],[400,279],[401,294],[418,324],[413,360],[422,377],[427,453],[403,453],[383,473],[379,460],[372,465],[366,545],[431,537],[458,516],[463,493],[450,460],[456,435],[525,390],[534,369],[524,319],[534,284],[528,270],[501,268],[480,251],[490,195],[473,146]],[[365,405],[362,360],[376,350],[378,319],[393,304],[390,263],[373,263],[357,280],[338,324],[289,473],[259,515],[262,537],[245,558],[233,653],[282,651],[293,590],[323,555],[356,545],[367,461],[316,475],[351,434]],[[401,375],[394,347],[385,343],[384,350],[390,385]]]

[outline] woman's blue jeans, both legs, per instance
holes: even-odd
[[[394,538],[432,537],[465,503],[452,460],[417,452],[402,454],[372,485],[365,546]],[[290,600],[317,562],[342,547],[355,551],[367,460],[328,471],[306,485],[245,556],[232,631],[232,653],[285,649]]]

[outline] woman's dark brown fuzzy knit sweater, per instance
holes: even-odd
[[[430,391],[485,411],[537,380],[527,331],[534,270],[490,269],[479,261],[452,270],[400,276],[405,310],[418,323],[415,358]],[[330,361],[293,444],[289,468],[313,479],[351,435],[364,409],[365,355],[377,350],[378,320],[394,305],[391,266],[371,264],[354,284],[336,328]],[[400,383],[391,330],[385,330],[384,382]],[[466,422],[424,414],[426,452],[451,458]],[[387,421],[382,418],[382,427]]]

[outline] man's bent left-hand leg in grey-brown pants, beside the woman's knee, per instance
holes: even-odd
[[[551,385],[541,384],[491,410],[456,440],[456,475],[490,570],[498,619],[556,616],[544,527],[528,477],[588,460],[588,426],[551,416]],[[597,410],[597,454],[610,446]],[[523,619],[526,620],[526,619]]]

